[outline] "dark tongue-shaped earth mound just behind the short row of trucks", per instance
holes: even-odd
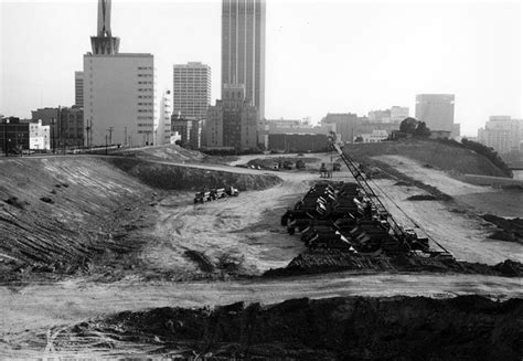
[[[143,183],[163,190],[201,190],[233,185],[245,191],[266,189],[281,182],[278,177],[271,174],[234,173],[127,158],[107,158],[107,161]]]

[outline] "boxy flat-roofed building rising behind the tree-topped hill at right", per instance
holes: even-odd
[[[452,131],[453,94],[416,95],[416,119],[430,130]]]

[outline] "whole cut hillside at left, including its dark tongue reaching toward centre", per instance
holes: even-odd
[[[129,253],[147,241],[139,231],[157,216],[150,205],[167,191],[280,181],[99,156],[12,158],[0,169],[0,280],[132,267]]]

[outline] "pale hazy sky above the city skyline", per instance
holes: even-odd
[[[30,117],[74,103],[74,71],[96,34],[97,1],[0,0],[0,114]],[[266,117],[408,106],[456,94],[456,121],[476,136],[490,115],[522,117],[521,1],[267,0]],[[221,1],[113,2],[120,52],[154,54],[158,85],[172,64],[212,67],[220,97]]]

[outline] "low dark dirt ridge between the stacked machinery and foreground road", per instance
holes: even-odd
[[[437,272],[480,274],[504,277],[522,277],[523,265],[506,259],[494,266],[481,263],[469,263],[453,258],[420,257],[398,255],[364,256],[337,249],[316,249],[303,252],[285,268],[270,269],[266,277],[317,274],[343,269],[369,272]]]

